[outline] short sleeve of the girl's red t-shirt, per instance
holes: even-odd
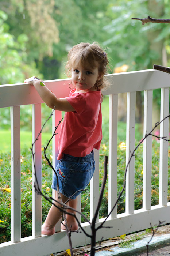
[[[66,99],[79,115],[86,110],[86,101],[80,93],[75,93]]]

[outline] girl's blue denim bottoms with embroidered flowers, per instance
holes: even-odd
[[[89,184],[95,170],[94,153],[85,157],[73,157],[63,153],[55,171],[58,177],[59,192],[70,199],[76,197]],[[51,188],[57,190],[57,178],[53,175]]]

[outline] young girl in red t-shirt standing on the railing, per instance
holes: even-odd
[[[71,74],[74,87],[69,97],[57,98],[45,83],[35,76],[24,81],[35,87],[47,106],[66,112],[59,137],[59,164],[56,172],[62,202],[65,203],[70,198],[67,205],[74,209],[77,207],[80,190],[88,185],[94,173],[93,149],[100,148],[103,101],[101,89],[108,85],[105,76],[107,64],[107,53],[98,44],[80,43],[73,46],[68,54],[66,70],[69,76]],[[51,187],[55,189],[55,200],[58,200],[55,174]],[[55,204],[61,207],[61,204]],[[72,210],[67,211],[75,213]],[[42,234],[53,235],[60,218],[61,211],[52,205],[42,225]],[[66,218],[69,228],[77,230],[76,219],[68,214]],[[65,229],[64,225],[62,229]]]

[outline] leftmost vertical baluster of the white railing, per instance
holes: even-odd
[[[11,242],[21,239],[20,106],[11,107]]]

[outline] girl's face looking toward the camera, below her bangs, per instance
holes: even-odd
[[[76,86],[76,93],[96,91],[95,84],[101,76],[98,67],[85,68],[81,64],[72,67],[72,83]]]

